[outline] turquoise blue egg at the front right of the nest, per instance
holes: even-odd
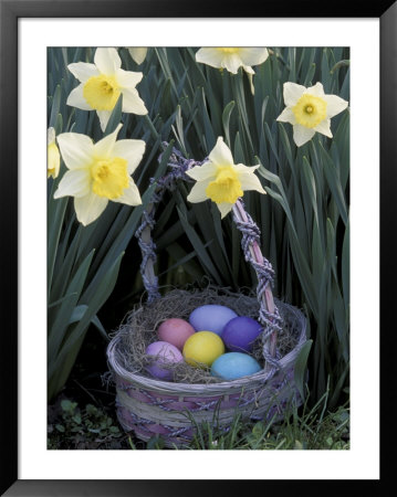
[[[231,381],[254,374],[261,369],[260,363],[248,353],[227,352],[212,362],[211,374]]]

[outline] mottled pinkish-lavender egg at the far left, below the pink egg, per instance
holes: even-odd
[[[153,356],[146,370],[159,380],[173,380],[173,364],[182,362],[184,357],[180,351],[166,341],[155,341],[146,348],[146,356]]]

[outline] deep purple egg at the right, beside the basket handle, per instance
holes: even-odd
[[[221,338],[229,350],[250,352],[262,326],[248,316],[239,316],[226,324]]]

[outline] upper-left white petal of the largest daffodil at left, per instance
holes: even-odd
[[[58,136],[58,145],[69,169],[83,169],[92,163],[94,144],[86,135],[63,133]]]

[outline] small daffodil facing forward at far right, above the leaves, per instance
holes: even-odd
[[[325,95],[321,83],[306,88],[295,83],[284,83],[286,107],[278,117],[293,125],[293,137],[297,147],[321,133],[332,138],[331,117],[342,113],[348,103],[336,95]]]

